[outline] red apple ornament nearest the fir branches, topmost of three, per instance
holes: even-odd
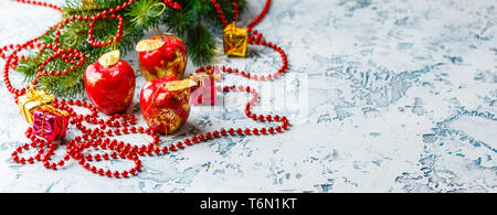
[[[182,78],[187,67],[187,46],[172,35],[155,35],[140,41],[136,51],[141,75],[150,80],[165,76]]]

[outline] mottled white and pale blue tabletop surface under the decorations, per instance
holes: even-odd
[[[243,20],[262,7],[251,0]],[[275,0],[256,29],[288,53],[288,75],[273,83],[228,77],[226,84],[257,86],[262,104],[254,111],[286,115],[292,129],[142,158],[142,172],[130,179],[98,176],[74,161],[57,171],[13,162],[28,125],[1,84],[0,191],[496,192],[496,7],[495,0]],[[1,0],[0,45],[36,36],[59,19],[50,9]],[[215,63],[256,74],[281,65],[271,50],[253,46],[250,56],[220,54]],[[126,58],[138,74],[136,53]],[[19,86],[22,77],[11,76]],[[138,77],[136,98],[142,84]],[[194,107],[168,140],[261,126],[244,117],[245,95],[223,98],[226,107]]]

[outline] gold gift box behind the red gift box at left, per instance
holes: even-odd
[[[53,95],[46,94],[44,89],[35,90],[33,86],[30,90],[18,98],[19,114],[28,121],[28,123],[33,125],[33,111],[44,105],[50,105],[53,103],[55,97]]]

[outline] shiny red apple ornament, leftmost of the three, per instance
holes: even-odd
[[[119,51],[102,55],[85,71],[85,89],[92,104],[102,112],[125,111],[133,101],[136,77],[133,67],[120,60]]]

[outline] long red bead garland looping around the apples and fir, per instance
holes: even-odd
[[[32,1],[32,0],[31,1],[30,0],[17,0],[17,1],[23,2],[23,3],[31,3],[31,4],[38,4],[38,6],[43,6],[43,7],[47,7],[47,8],[53,8],[60,12],[64,12],[61,8],[50,4],[50,3]],[[25,94],[27,89],[29,88],[29,86],[27,86],[22,89],[15,89],[12,87],[12,85],[9,80],[10,68],[15,68],[19,60],[22,61],[22,60],[28,58],[25,56],[18,57],[18,53],[21,52],[22,50],[38,47],[38,49],[40,49],[39,50],[40,53],[42,53],[46,50],[52,50],[52,52],[53,52],[53,55],[49,56],[46,60],[44,60],[42,62],[42,66],[40,66],[38,68],[35,79],[31,83],[33,86],[38,84],[36,79],[40,78],[41,76],[65,75],[65,74],[68,74],[71,72],[75,71],[76,67],[81,67],[83,65],[83,63],[86,61],[85,55],[83,53],[80,53],[77,50],[72,49],[72,47],[68,47],[68,49],[60,47],[57,44],[59,36],[61,35],[61,30],[64,28],[64,25],[66,25],[70,22],[74,22],[74,21],[91,22],[89,23],[91,28],[88,30],[88,42],[93,46],[106,46],[106,45],[112,45],[112,44],[118,42],[123,37],[124,18],[119,14],[115,14],[115,12],[129,7],[129,4],[135,3],[135,1],[136,0],[129,0],[114,9],[104,10],[103,12],[99,12],[94,17],[81,17],[81,15],[75,17],[75,15],[73,15],[68,19],[62,20],[61,22],[59,22],[57,24],[52,26],[49,31],[46,31],[43,34],[43,35],[46,35],[49,32],[55,30],[55,37],[54,37],[53,44],[41,45],[39,43],[40,37],[43,36],[43,35],[41,35],[36,39],[25,42],[24,44],[20,44],[20,45],[10,44],[10,45],[6,45],[2,49],[0,49],[0,57],[7,60],[7,63],[3,68],[3,80],[6,83],[7,89],[14,95],[14,98],[17,100],[17,97]],[[181,9],[181,7],[172,0],[165,0],[163,2],[169,8],[172,8],[175,10]],[[224,17],[222,10],[220,9],[221,6],[219,3],[216,3],[215,0],[211,0],[211,2],[214,4],[214,8],[216,8],[216,12],[219,14],[219,18],[221,19],[221,22],[224,25],[226,25],[228,21]],[[233,2],[232,3],[233,13],[234,13],[233,19],[236,21],[239,19],[237,18],[239,4],[236,3],[236,0],[232,0],[232,2]],[[278,52],[281,54],[281,57],[283,61],[282,67],[276,73],[274,73],[272,75],[267,75],[267,76],[255,75],[255,74],[251,74],[251,73],[247,73],[244,71],[237,71],[237,69],[234,69],[231,67],[226,67],[226,66],[221,67],[222,72],[229,73],[229,74],[236,74],[236,75],[241,75],[245,78],[258,79],[258,80],[274,79],[286,72],[286,69],[288,68],[288,61],[287,61],[285,52],[279,46],[277,46],[271,42],[266,42],[260,32],[257,32],[256,30],[253,30],[253,26],[255,26],[257,23],[260,23],[261,20],[267,13],[269,4],[271,4],[271,0],[266,0],[266,4],[264,6],[264,9],[261,12],[261,14],[248,24],[248,26],[247,26],[248,32],[250,32],[248,42],[250,42],[250,44],[264,45],[264,46],[271,47],[271,49],[275,50],[276,52]],[[104,42],[98,42],[98,41],[94,40],[93,28],[95,25],[95,22],[101,19],[118,19],[118,26],[117,26],[116,35],[113,40],[107,40]],[[8,52],[9,50],[11,50],[11,53],[7,54],[6,52]],[[53,61],[55,57],[61,57],[63,61],[68,63],[70,66],[63,71],[44,71],[43,67],[46,64],[49,64],[51,61]],[[218,68],[218,66],[208,65],[205,67],[202,66],[202,67],[198,68],[197,72],[205,72],[207,69],[211,69],[213,67]],[[216,89],[224,92],[224,93],[240,90],[242,93],[252,94],[253,98],[245,106],[246,117],[252,118],[254,121],[258,120],[258,121],[265,121],[265,122],[279,122],[281,126],[262,127],[262,128],[229,128],[228,130],[225,128],[221,128],[219,130],[205,132],[205,133],[199,135],[197,137],[186,138],[183,141],[178,141],[176,143],[171,143],[169,146],[161,147],[159,144],[160,137],[155,131],[152,131],[150,128],[146,129],[144,127],[135,126],[136,118],[133,115],[126,115],[126,114],[118,115],[117,114],[117,115],[110,116],[107,120],[97,119],[98,111],[96,110],[96,108],[93,105],[91,105],[86,101],[72,100],[72,99],[67,99],[67,100],[66,99],[55,99],[55,101],[53,103],[53,106],[55,108],[60,108],[60,109],[63,109],[63,110],[66,110],[67,112],[70,112],[71,125],[74,125],[78,130],[81,130],[83,132],[83,135],[76,136],[75,138],[68,140],[68,143],[65,144],[66,153],[63,155],[63,159],[61,159],[56,162],[51,162],[52,155],[54,154],[55,150],[60,147],[60,144],[55,144],[53,142],[47,142],[43,139],[38,138],[36,136],[33,135],[32,129],[29,128],[25,131],[25,136],[27,136],[27,138],[29,138],[31,140],[31,143],[25,143],[21,147],[18,147],[15,149],[15,151],[12,152],[11,155],[12,155],[13,161],[19,162],[21,164],[34,163],[35,161],[40,161],[43,163],[43,165],[45,168],[52,169],[52,170],[62,168],[67,163],[67,161],[70,161],[71,159],[74,159],[75,161],[78,162],[80,165],[82,165],[84,169],[91,171],[92,173],[105,175],[108,178],[127,178],[129,175],[137,174],[141,170],[141,161],[140,161],[139,157],[154,155],[154,154],[165,155],[165,154],[178,151],[178,150],[182,150],[186,147],[193,146],[193,143],[200,143],[200,142],[213,140],[215,138],[226,137],[228,135],[231,135],[231,136],[251,136],[251,135],[267,136],[267,135],[272,135],[272,133],[284,132],[285,130],[288,129],[289,122],[286,117],[279,117],[278,115],[274,115],[274,116],[256,115],[251,111],[252,106],[258,101],[260,97],[258,97],[257,92],[255,89],[251,88],[250,86],[232,85],[232,86],[216,87]],[[80,106],[83,108],[87,108],[91,111],[91,114],[78,115],[70,106]],[[84,126],[84,123],[98,125],[98,128],[91,129],[91,128],[87,128],[86,126]],[[142,144],[141,147],[138,147],[136,144],[125,143],[123,141],[117,141],[116,139],[108,138],[108,137],[113,137],[113,136],[133,135],[133,133],[148,135],[148,136],[152,137],[154,141],[148,144]],[[84,150],[89,149],[89,148],[109,150],[112,152],[110,153],[105,152],[102,154],[84,153]],[[29,158],[20,157],[20,154],[23,151],[28,151],[30,149],[38,149],[38,153],[34,157],[29,157]],[[135,165],[134,165],[134,168],[130,168],[129,170],[112,171],[112,170],[98,169],[95,165],[91,164],[91,162],[93,162],[93,161],[102,161],[102,160],[109,160],[109,159],[128,159],[128,160],[134,161]]]

